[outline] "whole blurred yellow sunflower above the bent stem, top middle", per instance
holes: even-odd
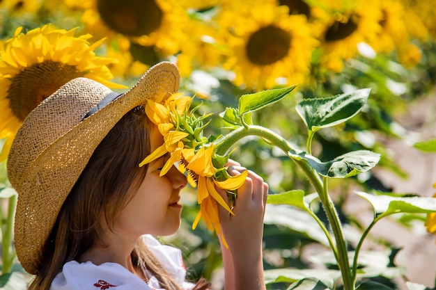
[[[235,17],[244,22],[233,22]],[[318,42],[304,15],[289,15],[287,6],[259,3],[238,15],[223,11],[219,21],[232,31],[233,54],[224,67],[235,72],[236,85],[263,90],[275,86],[277,79],[282,84],[300,83],[309,74]]]

